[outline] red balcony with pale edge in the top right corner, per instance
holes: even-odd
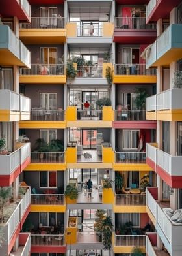
[[[170,11],[177,7],[181,3],[181,0],[173,0],[173,1],[166,1],[166,0],[157,0],[157,5],[151,11],[151,14],[146,19],[146,22],[151,22],[159,20],[159,18],[169,18]]]

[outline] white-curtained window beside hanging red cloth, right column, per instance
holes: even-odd
[[[123,130],[122,148],[123,150],[138,148],[139,130]]]

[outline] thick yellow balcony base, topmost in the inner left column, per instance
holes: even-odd
[[[64,44],[66,29],[19,29],[19,38],[25,44]]]

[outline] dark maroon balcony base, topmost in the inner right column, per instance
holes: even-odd
[[[157,37],[156,31],[140,29],[114,29],[113,41],[123,44],[152,44]]]

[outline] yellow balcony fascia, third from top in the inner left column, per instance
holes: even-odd
[[[65,129],[66,121],[20,121],[19,129]]]

